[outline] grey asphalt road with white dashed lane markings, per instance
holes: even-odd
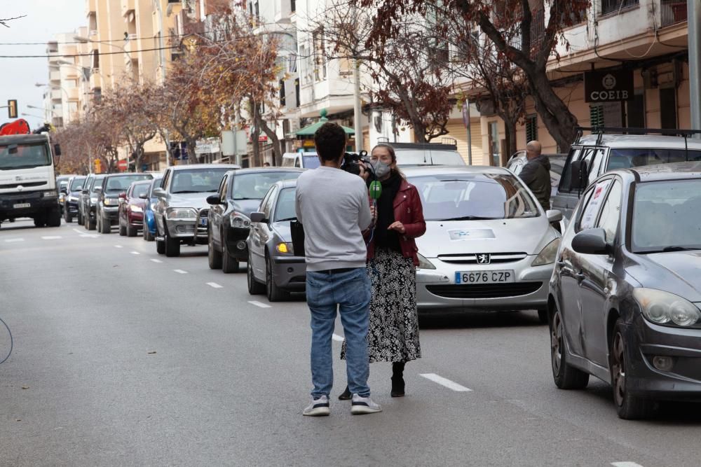
[[[0,228],[2,466],[701,465],[701,405],[623,421],[594,378],[556,389],[535,312],[423,316],[406,397],[374,363],[383,412],[351,416],[336,360],[332,415],[303,417],[303,298],[251,297],[205,246],[31,225]]]

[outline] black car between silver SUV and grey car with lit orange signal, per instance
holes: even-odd
[[[207,197],[208,256],[212,269],[238,271],[238,263],[248,260],[246,239],[250,213],[256,211],[273,183],[297,179],[302,169],[268,167],[226,172],[216,195]]]

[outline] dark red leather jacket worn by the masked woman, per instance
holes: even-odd
[[[372,200],[371,200],[372,202]],[[404,258],[412,258],[414,265],[418,266],[418,248],[414,239],[426,233],[426,221],[423,220],[423,207],[418,190],[406,180],[402,180],[397,196],[394,199],[395,221],[400,221],[404,225],[406,232],[399,235],[399,244],[402,248]],[[369,232],[366,234],[369,235]],[[371,260],[375,256],[375,241],[372,240],[367,245],[367,259]]]

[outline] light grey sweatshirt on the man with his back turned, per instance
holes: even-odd
[[[304,224],[308,271],[365,267],[361,232],[372,218],[363,179],[332,167],[307,170],[297,179],[294,207]]]

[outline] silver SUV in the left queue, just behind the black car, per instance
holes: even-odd
[[[168,167],[161,187],[154,190],[156,251],[179,256],[180,245],[207,243],[207,196],[217,193],[224,174],[240,169],[233,164],[196,164]]]

